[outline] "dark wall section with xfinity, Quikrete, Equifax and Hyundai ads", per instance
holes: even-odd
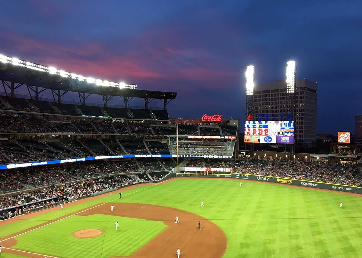
[[[249,175],[249,174],[238,174],[238,173],[235,173],[235,174],[232,173],[231,178],[255,180],[255,181],[261,181],[261,182],[280,183],[280,184],[290,184],[290,185],[294,185],[294,186],[303,186],[303,187],[320,188],[320,189],[362,194],[361,187],[342,186],[342,185],[338,185],[338,184],[328,184],[328,183],[321,183],[321,182],[310,182],[310,181],[299,180],[299,179],[276,178],[273,176],[260,176],[260,175]]]

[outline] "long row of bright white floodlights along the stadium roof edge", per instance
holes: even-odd
[[[28,69],[36,70],[39,72],[47,72],[52,75],[58,75],[58,76],[62,76],[65,78],[79,80],[80,82],[96,84],[97,86],[117,87],[117,88],[121,88],[121,89],[126,88],[126,89],[134,89],[134,90],[137,89],[136,84],[127,84],[124,82],[116,83],[116,82],[109,82],[108,80],[102,80],[102,79],[97,79],[97,78],[93,78],[93,77],[85,77],[83,75],[77,75],[77,74],[74,74],[71,72],[58,70],[55,67],[38,65],[36,63],[27,62],[27,61],[24,61],[24,60],[15,58],[15,57],[8,57],[8,56],[2,55],[2,54],[0,54],[0,62],[5,63],[5,64],[12,64],[14,66],[26,67]]]

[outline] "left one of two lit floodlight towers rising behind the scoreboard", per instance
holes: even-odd
[[[253,120],[254,115],[254,86],[255,86],[255,68],[253,65],[249,65],[245,71],[246,78],[246,91],[247,101],[245,108],[245,120]],[[254,152],[254,143],[245,143],[245,154],[249,154],[252,157]]]

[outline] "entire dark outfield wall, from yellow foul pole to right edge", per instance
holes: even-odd
[[[293,186],[320,188],[320,189],[326,189],[326,190],[362,194],[362,187],[345,186],[343,184],[313,182],[313,181],[291,179],[291,178],[279,178],[276,176],[261,176],[261,175],[249,175],[249,174],[240,174],[240,173],[232,173],[231,175],[223,175],[223,174],[205,175],[205,174],[192,174],[192,173],[188,173],[188,174],[178,173],[178,174],[176,174],[176,176],[177,177],[203,177],[203,178],[236,178],[236,179],[253,180],[253,181],[260,181],[260,182],[271,182],[271,183],[279,183],[279,184],[290,184]]]

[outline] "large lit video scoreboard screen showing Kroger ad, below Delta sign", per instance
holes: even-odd
[[[246,143],[294,143],[294,121],[245,121]]]

